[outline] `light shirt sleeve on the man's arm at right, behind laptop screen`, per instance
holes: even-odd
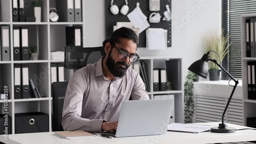
[[[145,83],[143,82],[142,78],[139,74],[135,74],[134,77],[134,87],[131,93],[132,100],[149,100],[148,94],[145,90]]]

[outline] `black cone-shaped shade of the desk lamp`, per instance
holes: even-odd
[[[208,63],[202,59],[197,60],[188,67],[188,70],[206,79],[208,75]]]

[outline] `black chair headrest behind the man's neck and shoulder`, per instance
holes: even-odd
[[[97,62],[105,51],[103,46],[99,47],[65,47],[65,67],[71,69],[79,69],[89,63]]]

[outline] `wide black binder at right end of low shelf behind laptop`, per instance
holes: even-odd
[[[181,66],[180,60],[166,60],[166,73],[167,73],[167,81],[170,82],[170,87],[172,90],[181,90]]]

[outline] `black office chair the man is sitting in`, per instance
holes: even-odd
[[[89,63],[97,62],[105,55],[102,46],[99,47],[65,47],[65,68],[79,69]],[[63,131],[61,125],[62,109],[68,82],[52,83],[52,131]]]

